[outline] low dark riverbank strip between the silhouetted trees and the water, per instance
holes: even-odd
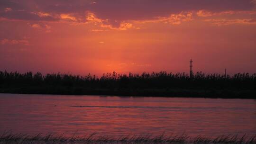
[[[0,88],[0,93],[256,99],[256,90],[216,89],[89,89],[82,87],[49,86]]]

